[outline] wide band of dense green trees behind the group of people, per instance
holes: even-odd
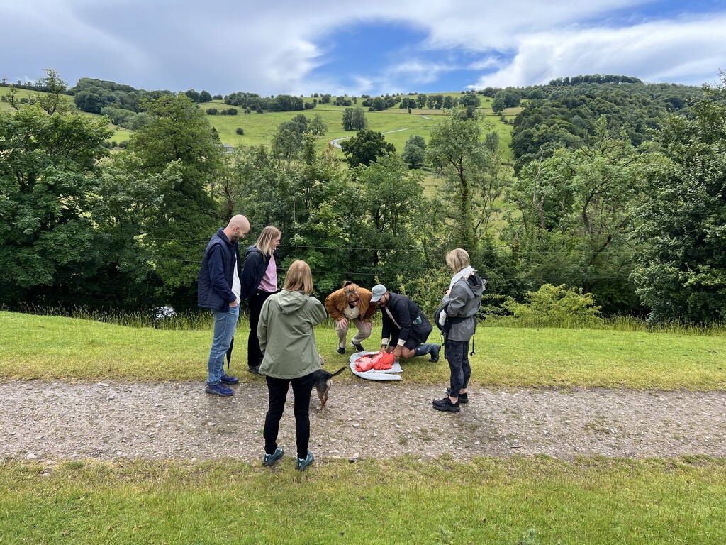
[[[140,100],[147,122],[112,154],[106,121],[81,116],[49,78],[57,93],[0,113],[5,307],[195,307],[208,238],[242,213],[250,238],[280,227],[282,267],[309,262],[320,296],[346,279],[382,282],[431,310],[448,283],[444,255],[462,247],[489,280],[488,313],[552,284],[611,314],[724,319],[726,78],[670,109],[668,89],[650,101],[607,85],[547,90],[515,126],[516,175],[463,105],[404,153],[357,132],[341,168],[316,145],[319,116],[224,153],[187,94],[163,93]],[[423,164],[435,190],[423,190]]]

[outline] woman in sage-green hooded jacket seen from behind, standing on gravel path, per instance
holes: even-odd
[[[310,392],[313,374],[320,368],[313,328],[327,318],[321,302],[311,296],[313,280],[309,265],[295,261],[290,265],[282,291],[262,305],[257,337],[263,353],[260,374],[266,376],[269,408],[263,436],[262,463],[272,466],[284,451],[277,446],[280,419],[285,410],[287,389],[295,395],[295,437],[298,459],[295,467],[304,471],[313,461],[310,440]]]

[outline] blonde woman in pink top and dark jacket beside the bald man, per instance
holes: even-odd
[[[247,339],[247,365],[250,373],[259,374],[262,352],[257,342],[257,323],[262,305],[277,291],[277,252],[282,232],[273,225],[262,230],[257,242],[245,251],[242,269],[242,298],[250,306],[250,335]]]

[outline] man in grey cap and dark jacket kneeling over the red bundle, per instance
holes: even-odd
[[[396,358],[415,358],[430,354],[439,361],[439,344],[426,344],[433,330],[418,305],[405,295],[392,294],[383,284],[373,286],[371,302],[378,302],[383,315],[380,348]]]

